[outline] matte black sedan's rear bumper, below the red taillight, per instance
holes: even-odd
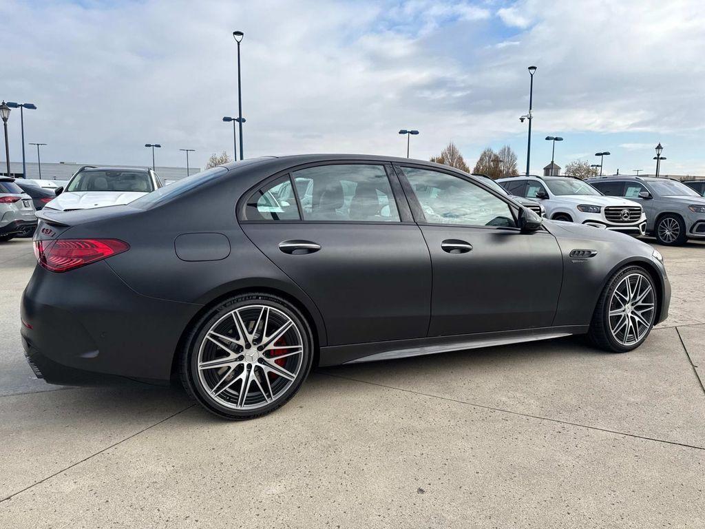
[[[105,262],[63,274],[36,267],[23,293],[20,332],[30,366],[51,384],[166,382],[199,309],[142,296]]]

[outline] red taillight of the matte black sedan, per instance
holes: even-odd
[[[39,265],[51,272],[73,270],[129,249],[128,243],[118,239],[35,241],[35,255]]]

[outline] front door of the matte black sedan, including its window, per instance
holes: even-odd
[[[459,174],[400,165],[431,253],[429,336],[550,327],[563,258],[551,233],[521,233],[517,207]]]

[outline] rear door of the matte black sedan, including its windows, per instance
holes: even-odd
[[[426,336],[429,250],[391,165],[312,164],[274,176],[240,217],[250,240],[314,300],[328,345]]]

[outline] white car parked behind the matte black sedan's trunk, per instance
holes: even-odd
[[[70,211],[129,204],[161,187],[152,169],[85,168],[73,175],[66,188],[57,188],[56,198],[44,207]]]

